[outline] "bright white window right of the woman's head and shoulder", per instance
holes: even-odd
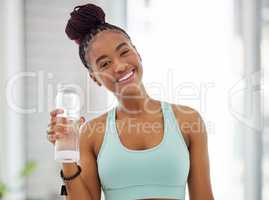
[[[240,87],[246,80],[242,38],[237,34],[241,22],[234,12],[238,1],[127,2],[127,28],[142,56],[147,91],[201,113],[209,135],[215,198],[226,200],[232,194],[233,199],[246,199],[244,131],[248,125],[241,116],[245,96]],[[268,177],[265,174],[264,188]],[[264,199],[268,198],[267,192]]]

